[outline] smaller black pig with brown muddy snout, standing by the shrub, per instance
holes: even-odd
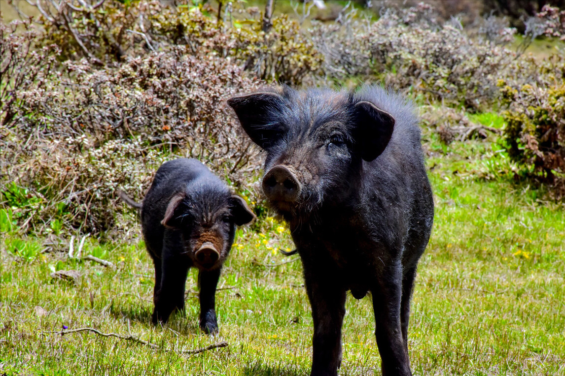
[[[186,275],[197,267],[200,328],[218,330],[215,294],[221,266],[236,225],[254,218],[245,201],[201,162],[181,158],[159,167],[141,205],[145,245],[155,265],[154,324],[164,324],[173,310],[184,309]]]

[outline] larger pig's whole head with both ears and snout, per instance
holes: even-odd
[[[266,152],[263,192],[286,219],[307,218],[358,189],[362,160],[390,140],[390,114],[353,95],[288,87],[228,100],[250,138]]]

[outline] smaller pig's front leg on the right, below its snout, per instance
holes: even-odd
[[[218,331],[216,321],[216,286],[220,278],[221,268],[211,271],[201,270],[198,273],[200,285],[200,329],[206,334]]]

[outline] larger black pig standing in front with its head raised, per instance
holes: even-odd
[[[371,291],[383,375],[411,375],[416,265],[433,222],[418,119],[380,87],[267,89],[228,100],[266,151],[263,191],[288,222],[312,306],[311,375],[337,375],[346,292]]]

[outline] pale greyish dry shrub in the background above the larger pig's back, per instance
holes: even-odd
[[[386,8],[375,22],[355,12],[345,12],[340,23],[312,27],[328,78],[376,75],[385,85],[471,110],[497,104],[499,78],[523,84],[546,80],[533,57],[505,46],[515,30],[496,17],[486,17],[471,36],[458,19],[441,22],[425,3]]]

